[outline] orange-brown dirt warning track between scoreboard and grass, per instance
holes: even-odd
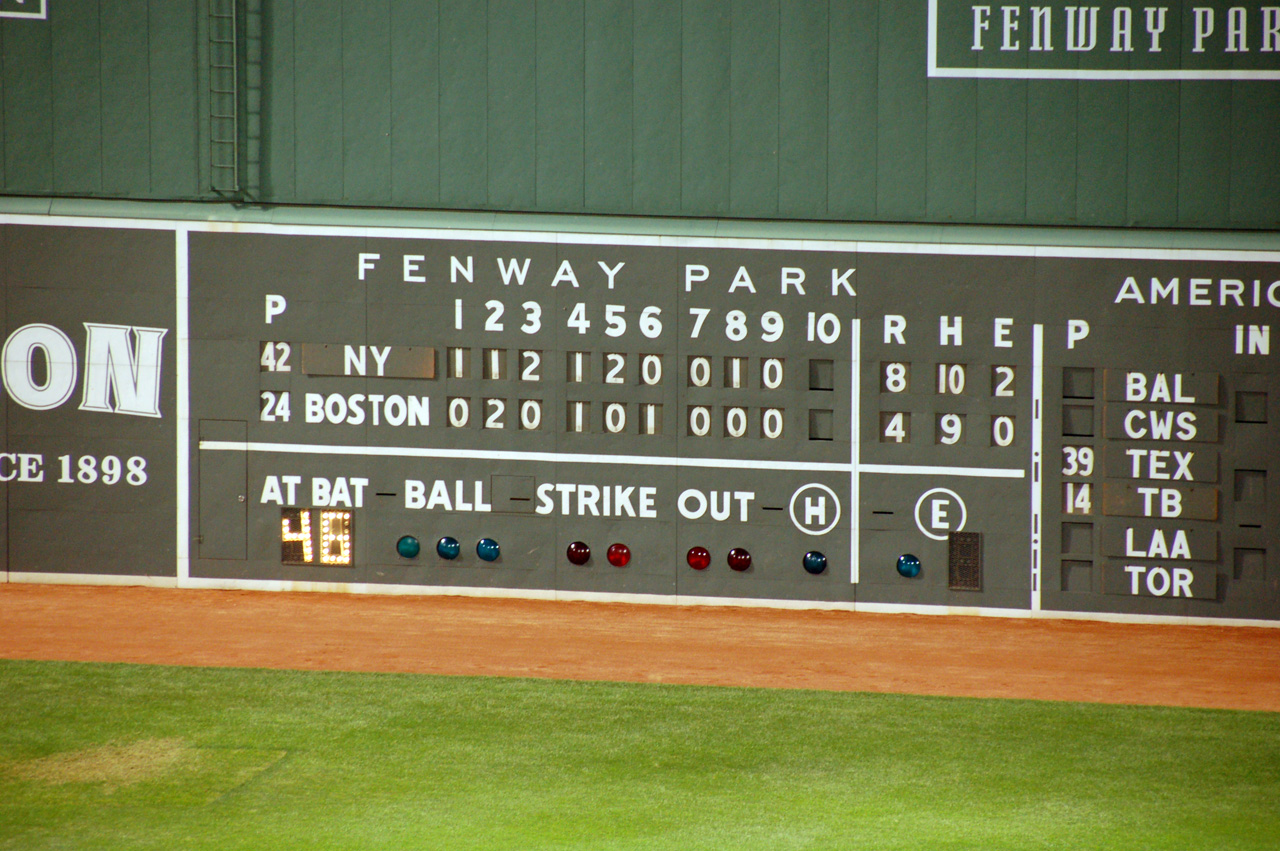
[[[0,585],[0,658],[1280,710],[1280,630]]]

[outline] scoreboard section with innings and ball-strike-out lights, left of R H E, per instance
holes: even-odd
[[[191,381],[209,392],[191,416],[244,429],[196,441],[201,468],[237,468],[196,523],[242,511],[247,488],[248,540],[192,575],[849,601],[847,260],[193,233],[193,316],[223,319],[192,324]],[[251,369],[228,381],[230,362]],[[352,512],[330,539],[344,575],[321,562],[319,513],[282,518],[300,508]]]

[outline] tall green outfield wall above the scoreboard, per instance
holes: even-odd
[[[0,0],[0,15],[8,195],[1280,220],[1266,1]]]

